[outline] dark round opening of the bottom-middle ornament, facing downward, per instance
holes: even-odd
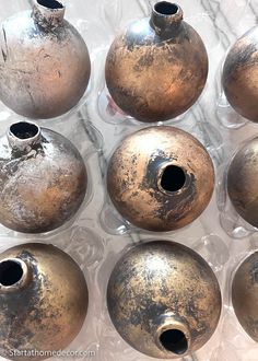
[[[183,354],[187,351],[187,338],[179,329],[168,329],[160,337],[162,346],[175,354]]]

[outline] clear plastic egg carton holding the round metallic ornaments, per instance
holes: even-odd
[[[119,30],[136,19],[148,16],[154,1],[62,2],[67,7],[66,19],[79,30],[89,46],[91,82],[83,100],[69,114],[37,124],[64,135],[78,147],[87,167],[87,196],[74,219],[57,231],[25,235],[0,226],[0,251],[26,242],[52,243],[81,266],[90,291],[89,313],[81,333],[67,348],[85,351],[79,360],[151,361],[152,358],[130,348],[114,328],[106,305],[108,277],[121,253],[140,241],[173,240],[183,243],[209,263],[223,295],[216,331],[207,345],[183,360],[257,361],[258,345],[247,336],[234,314],[231,283],[241,261],[258,248],[258,230],[241,220],[232,208],[225,190],[225,172],[233,153],[243,141],[257,133],[258,126],[231,108],[221,86],[221,70],[230,46],[257,23],[258,1],[178,1],[185,20],[198,31],[206,44],[209,78],[198,102],[166,125],[189,131],[203,143],[215,165],[216,187],[209,207],[199,219],[169,233],[144,232],[129,224],[110,203],[105,185],[108,160],[116,145],[126,135],[148,126],[125,115],[112,101],[105,85],[105,57]],[[31,5],[30,0],[1,0],[0,20]],[[20,116],[0,104],[1,133],[19,119]],[[74,360],[74,357],[66,359]]]

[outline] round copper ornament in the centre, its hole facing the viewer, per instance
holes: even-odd
[[[149,127],[128,136],[114,152],[107,190],[120,214],[149,231],[173,231],[208,206],[214,168],[202,144],[173,127]]]

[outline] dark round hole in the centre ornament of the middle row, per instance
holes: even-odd
[[[177,191],[184,187],[186,174],[177,165],[167,165],[161,177],[161,186],[166,191]]]

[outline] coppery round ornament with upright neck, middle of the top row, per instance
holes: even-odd
[[[168,120],[200,96],[208,56],[179,5],[154,4],[151,19],[132,23],[112,44],[106,84],[115,103],[140,121]]]

